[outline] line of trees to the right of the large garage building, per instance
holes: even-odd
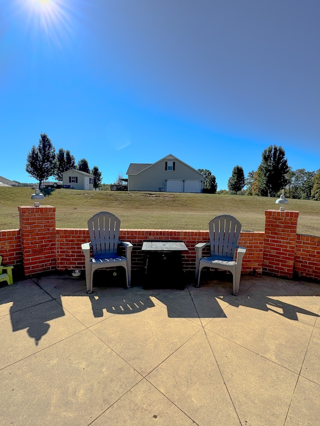
[[[250,171],[246,178],[241,166],[233,167],[227,182],[228,191],[216,191],[215,177],[209,170],[198,169],[198,171],[206,178],[204,192],[276,197],[282,189],[285,189],[288,198],[320,200],[320,169],[316,172],[305,169],[292,170],[281,146],[270,145],[264,149],[258,168]]]

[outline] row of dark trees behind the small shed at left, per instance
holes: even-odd
[[[61,182],[62,173],[72,169],[92,174],[93,188],[100,187],[102,175],[98,167],[93,166],[90,170],[85,158],[81,158],[75,164],[75,158],[68,149],[59,148],[55,153],[55,148],[46,133],[40,134],[38,146],[33,145],[26,157],[25,171],[39,181],[39,187],[50,176]]]

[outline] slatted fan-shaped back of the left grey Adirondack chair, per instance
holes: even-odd
[[[96,213],[88,220],[93,256],[116,254],[120,219],[109,212]]]

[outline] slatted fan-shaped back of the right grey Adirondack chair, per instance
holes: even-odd
[[[241,224],[228,214],[216,216],[209,222],[211,256],[233,259],[241,232]]]

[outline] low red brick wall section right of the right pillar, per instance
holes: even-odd
[[[302,278],[320,280],[320,237],[297,234],[294,272]]]

